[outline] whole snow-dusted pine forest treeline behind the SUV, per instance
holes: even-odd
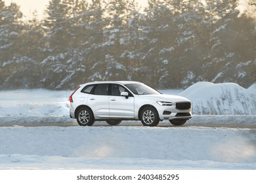
[[[71,90],[94,80],[248,87],[256,80],[256,24],[237,7],[234,0],[149,0],[146,7],[51,0],[44,18],[34,11],[24,20],[18,5],[0,0],[1,90]]]

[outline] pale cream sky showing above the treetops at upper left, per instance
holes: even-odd
[[[39,18],[43,18],[46,6],[50,0],[5,0],[5,5],[16,3],[20,6],[20,10],[25,16],[25,19],[31,19],[33,17],[33,11],[37,10]],[[145,3],[147,0],[139,0],[140,3]]]

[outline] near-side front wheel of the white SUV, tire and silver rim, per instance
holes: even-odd
[[[156,126],[160,122],[158,112],[153,107],[143,108],[140,113],[140,120],[145,126]]]

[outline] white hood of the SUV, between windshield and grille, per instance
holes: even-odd
[[[168,95],[168,94],[152,94],[152,95],[140,95],[140,97],[155,99],[156,101],[167,101],[167,102],[190,102],[185,97],[181,97],[178,95]]]

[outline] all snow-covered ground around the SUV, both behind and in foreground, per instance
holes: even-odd
[[[80,127],[69,118],[71,92],[0,92],[0,125],[11,125],[0,127],[0,169],[256,169],[256,129]],[[161,92],[192,101],[194,115],[187,124],[256,124],[255,84],[245,89],[199,82],[184,91]],[[224,115],[209,115],[221,111]],[[43,126],[57,123],[71,126]]]

